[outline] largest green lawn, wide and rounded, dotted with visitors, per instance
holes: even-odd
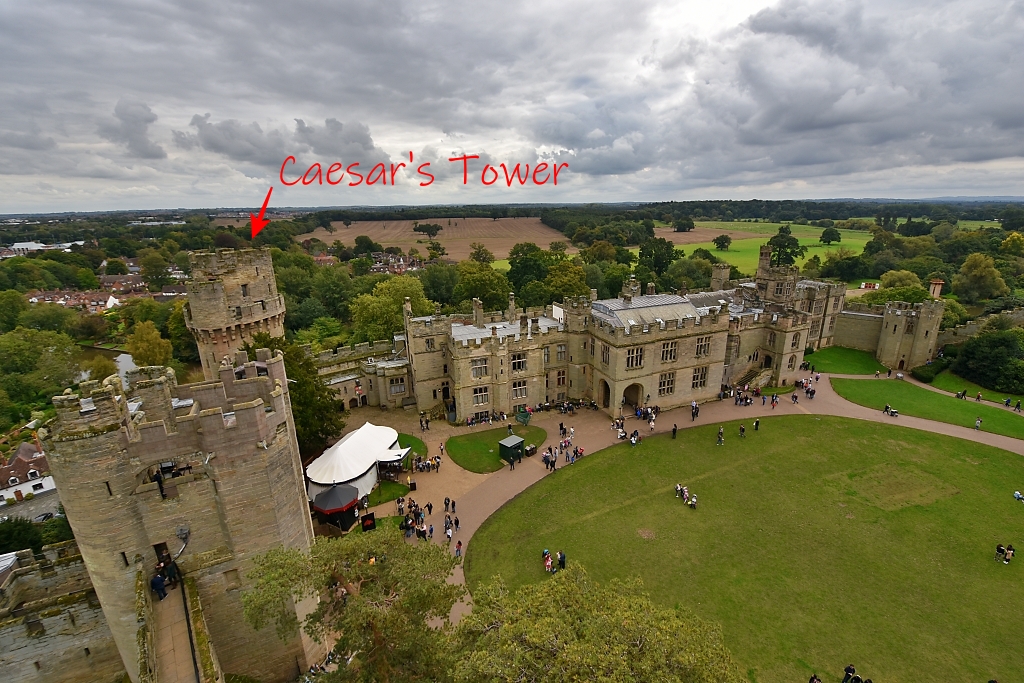
[[[1024,458],[842,418],[737,428],[722,449],[715,424],[560,467],[473,536],[470,588],[546,581],[542,550],[562,550],[721,624],[750,681],[838,683],[850,661],[876,681],[1022,680],[1024,563],[992,555],[1020,539]]]

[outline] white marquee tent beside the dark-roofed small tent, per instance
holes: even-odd
[[[324,452],[306,468],[306,495],[313,500],[339,483],[355,486],[359,498],[377,483],[377,464],[400,461],[409,449],[398,445],[398,432],[369,422]]]

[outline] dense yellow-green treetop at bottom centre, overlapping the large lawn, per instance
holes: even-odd
[[[741,680],[720,627],[656,605],[639,580],[601,586],[579,565],[475,591],[453,641],[460,683]]]

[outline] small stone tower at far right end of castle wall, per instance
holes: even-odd
[[[935,356],[942,300],[924,303],[892,301],[882,315],[882,332],[874,357],[893,370],[910,370]]]

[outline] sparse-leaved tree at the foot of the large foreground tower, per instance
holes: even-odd
[[[252,588],[242,596],[245,618],[257,630],[273,624],[282,636],[301,627],[318,641],[336,638],[343,664],[335,681],[447,679],[447,628],[431,622],[446,625],[465,593],[447,581],[458,562],[443,546],[406,543],[389,526],[317,538],[308,554],[276,548],[254,558]],[[293,605],[312,597],[316,609],[300,625]]]

